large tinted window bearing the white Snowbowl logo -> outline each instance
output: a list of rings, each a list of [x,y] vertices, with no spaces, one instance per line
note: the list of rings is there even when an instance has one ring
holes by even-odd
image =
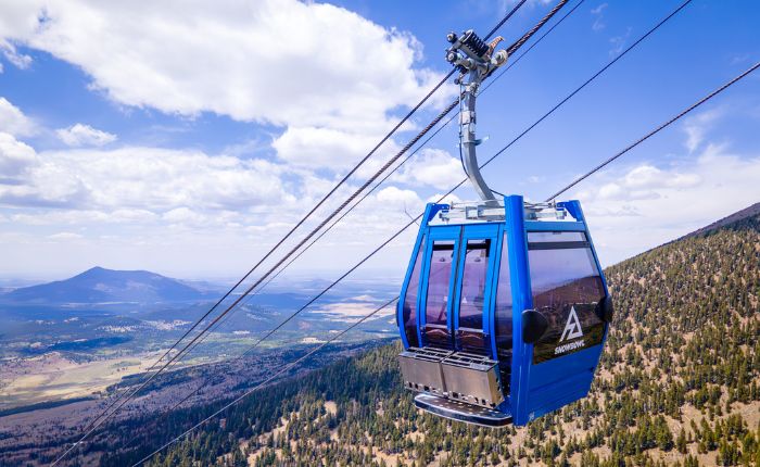
[[[604,337],[604,323],[595,313],[604,285],[585,237],[557,241],[550,248],[532,245],[542,238],[545,232],[528,234],[533,307],[549,321],[534,346],[533,363],[599,344]]]

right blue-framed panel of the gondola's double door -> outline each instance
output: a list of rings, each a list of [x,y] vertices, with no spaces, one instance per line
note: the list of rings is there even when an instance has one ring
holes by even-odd
[[[492,355],[491,287],[496,264],[498,225],[464,226],[454,299],[454,340],[457,351]]]

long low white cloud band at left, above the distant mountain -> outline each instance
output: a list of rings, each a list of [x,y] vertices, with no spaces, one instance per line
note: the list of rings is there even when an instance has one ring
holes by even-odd
[[[122,213],[129,215],[292,201],[282,187],[282,168],[263,160],[139,147],[36,154],[9,137],[0,141],[15,154],[5,156],[11,152],[3,149],[0,161],[24,171],[16,184],[0,185],[0,203],[7,205],[127,210]]]

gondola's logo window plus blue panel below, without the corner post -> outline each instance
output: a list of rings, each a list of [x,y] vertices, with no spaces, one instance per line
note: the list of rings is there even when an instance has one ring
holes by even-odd
[[[586,230],[528,230],[533,308],[548,327],[530,358],[529,418],[585,396],[601,354],[607,295]]]

